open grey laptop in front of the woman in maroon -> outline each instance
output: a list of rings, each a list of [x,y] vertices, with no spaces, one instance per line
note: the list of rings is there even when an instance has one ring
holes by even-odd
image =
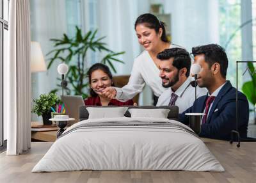
[[[66,114],[76,120],[70,121],[70,125],[79,122],[79,107],[85,106],[83,97],[80,95],[64,95],[63,97]]]

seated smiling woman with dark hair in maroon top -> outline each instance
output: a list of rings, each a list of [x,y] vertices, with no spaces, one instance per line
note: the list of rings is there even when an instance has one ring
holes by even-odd
[[[90,95],[84,100],[86,106],[132,106],[133,101],[120,102],[116,99],[108,99],[102,95],[102,90],[108,86],[114,86],[112,74],[108,66],[102,63],[95,63],[88,70],[90,83]]]

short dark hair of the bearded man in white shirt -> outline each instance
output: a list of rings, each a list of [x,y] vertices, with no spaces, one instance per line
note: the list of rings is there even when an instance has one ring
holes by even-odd
[[[165,49],[162,52],[157,54],[159,60],[168,60],[173,58],[173,67],[176,67],[178,70],[181,68],[187,68],[186,77],[189,77],[190,67],[191,67],[191,58],[189,52],[186,49],[182,48],[171,48]]]

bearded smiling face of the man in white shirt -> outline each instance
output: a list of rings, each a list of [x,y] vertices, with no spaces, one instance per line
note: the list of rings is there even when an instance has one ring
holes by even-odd
[[[173,86],[179,81],[179,70],[173,67],[173,58],[168,60],[162,60],[159,63],[160,74],[162,79],[162,85],[164,88]]]

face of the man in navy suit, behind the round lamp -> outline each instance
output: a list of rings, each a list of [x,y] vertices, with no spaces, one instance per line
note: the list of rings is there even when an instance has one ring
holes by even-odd
[[[196,55],[194,63],[198,63],[201,67],[197,79],[198,86],[210,88],[211,85],[214,83],[214,65],[212,65],[212,67],[209,67],[208,63],[205,62],[204,54]]]

